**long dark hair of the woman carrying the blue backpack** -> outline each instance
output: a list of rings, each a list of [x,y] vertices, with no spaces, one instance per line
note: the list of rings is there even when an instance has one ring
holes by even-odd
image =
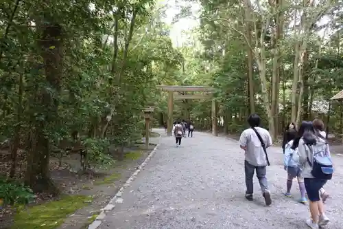
[[[316,144],[318,138],[325,140],[324,138],[322,138],[322,135],[320,135],[319,131],[314,128],[314,124],[308,121],[301,122],[298,130],[298,135],[293,142],[292,149],[298,148],[301,138],[303,138],[304,143],[307,145]]]

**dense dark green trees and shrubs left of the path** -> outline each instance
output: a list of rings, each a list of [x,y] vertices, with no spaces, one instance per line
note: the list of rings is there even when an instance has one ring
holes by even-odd
[[[123,157],[141,138],[142,109],[182,54],[154,1],[2,1],[1,165],[34,192],[58,193],[49,157],[84,156],[84,169]],[[163,81],[164,82],[164,81]],[[118,149],[108,152],[108,145]],[[18,173],[19,158],[24,168]]]

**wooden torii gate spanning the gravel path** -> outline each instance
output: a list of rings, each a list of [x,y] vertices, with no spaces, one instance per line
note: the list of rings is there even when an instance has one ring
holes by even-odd
[[[213,91],[212,87],[205,87],[205,86],[164,86],[160,85],[157,86],[158,88],[162,89],[163,91],[168,91],[168,122],[167,122],[167,135],[171,136],[172,128],[173,128],[173,108],[174,108],[174,99],[211,99],[212,100],[212,134],[214,136],[218,135],[217,132],[217,105],[215,100],[213,99]],[[189,95],[182,95],[182,94],[174,94],[176,91],[202,91],[207,92],[207,94],[189,94]]]

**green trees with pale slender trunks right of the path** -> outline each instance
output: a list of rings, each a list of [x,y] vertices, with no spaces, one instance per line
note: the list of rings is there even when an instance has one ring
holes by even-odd
[[[288,122],[322,118],[342,133],[342,1],[200,1],[202,63],[224,131],[257,112],[273,138]],[[209,108],[207,109],[209,110]]]

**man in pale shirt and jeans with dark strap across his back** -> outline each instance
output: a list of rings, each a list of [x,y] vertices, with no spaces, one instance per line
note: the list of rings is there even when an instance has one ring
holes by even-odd
[[[246,199],[253,200],[254,184],[252,179],[256,170],[265,204],[269,206],[272,204],[272,198],[268,189],[268,180],[265,177],[266,166],[269,165],[266,149],[272,145],[272,138],[266,129],[259,127],[260,122],[261,118],[256,113],[248,117],[250,128],[241,133],[239,144],[246,154],[244,162]]]

